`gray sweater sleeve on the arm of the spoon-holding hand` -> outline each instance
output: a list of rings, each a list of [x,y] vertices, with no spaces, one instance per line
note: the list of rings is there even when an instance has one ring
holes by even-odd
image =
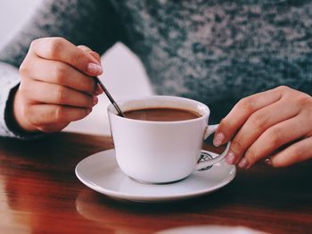
[[[12,128],[12,96],[19,85],[18,68],[31,41],[62,37],[103,54],[117,41],[124,41],[119,17],[110,1],[45,0],[33,17],[0,49],[0,136],[29,138]]]

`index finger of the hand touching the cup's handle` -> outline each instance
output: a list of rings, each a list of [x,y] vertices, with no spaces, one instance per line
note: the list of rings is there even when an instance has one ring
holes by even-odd
[[[243,123],[248,120],[252,113],[273,104],[282,97],[279,88],[258,93],[252,96],[244,97],[234,105],[234,108],[220,122],[213,140],[215,146],[220,146],[231,138],[239,130]]]

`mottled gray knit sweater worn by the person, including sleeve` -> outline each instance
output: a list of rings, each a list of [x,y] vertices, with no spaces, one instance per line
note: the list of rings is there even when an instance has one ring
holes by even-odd
[[[216,122],[269,88],[311,95],[311,34],[305,0],[47,0],[0,52],[0,135],[18,134],[10,92],[35,38],[63,37],[100,54],[120,41],[141,58],[156,93],[208,104]]]

